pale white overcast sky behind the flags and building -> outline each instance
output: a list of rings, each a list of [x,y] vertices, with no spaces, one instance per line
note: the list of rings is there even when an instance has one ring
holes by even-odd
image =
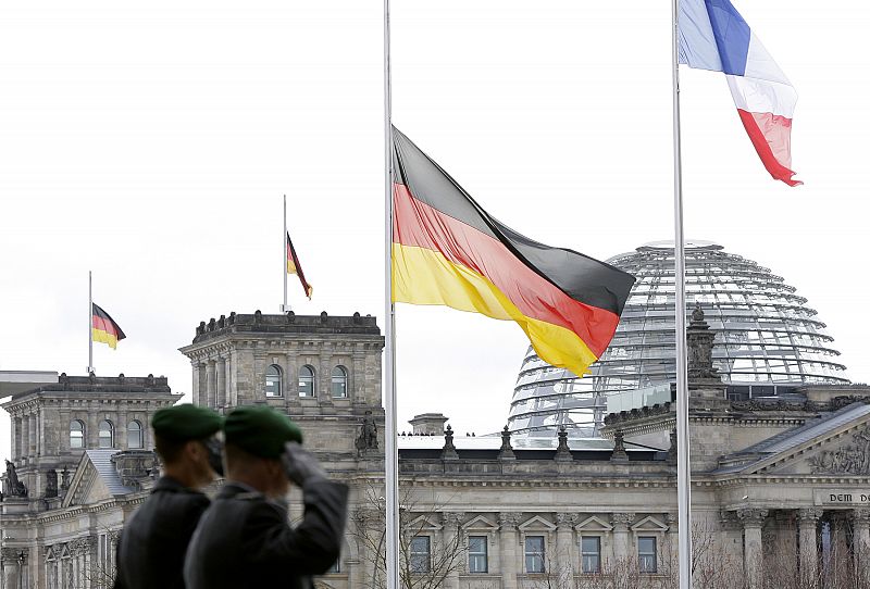
[[[770,267],[870,379],[870,10],[737,0],[799,99],[806,185],[770,179],[721,74],[682,68],[687,237]],[[384,311],[382,4],[4,2],[0,369],[85,374],[87,273],[127,334],[99,375],[165,375],[200,321],[282,299],[282,195],[311,302]],[[493,215],[607,259],[673,236],[670,3],[394,0],[394,123]],[[527,341],[444,308],[397,311],[399,429],[506,423]],[[9,453],[2,414],[0,454]]]

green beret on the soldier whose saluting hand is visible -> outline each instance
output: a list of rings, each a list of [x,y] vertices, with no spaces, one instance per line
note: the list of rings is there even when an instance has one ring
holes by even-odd
[[[254,456],[276,459],[284,452],[285,442],[302,443],[302,430],[268,405],[246,405],[226,416],[224,439]]]

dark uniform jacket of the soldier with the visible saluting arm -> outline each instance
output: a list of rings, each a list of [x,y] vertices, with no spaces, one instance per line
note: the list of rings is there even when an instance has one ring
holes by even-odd
[[[286,505],[227,483],[190,540],[187,588],[310,587],[310,576],[325,573],[338,559],[347,492],[340,483],[308,483],[304,517],[294,528]]]

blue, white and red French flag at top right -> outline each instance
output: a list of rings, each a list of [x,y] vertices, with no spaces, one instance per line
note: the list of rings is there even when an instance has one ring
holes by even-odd
[[[729,0],[680,0],[680,63],[722,72],[765,167],[788,186],[797,92]]]

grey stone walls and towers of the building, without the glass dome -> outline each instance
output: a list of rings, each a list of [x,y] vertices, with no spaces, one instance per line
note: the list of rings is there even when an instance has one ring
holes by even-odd
[[[805,571],[835,546],[848,547],[856,565],[870,561],[870,389],[805,387],[788,399],[730,401],[706,366],[709,350],[697,348],[713,341],[703,315],[689,329],[698,336],[689,338],[693,530],[707,557],[734,564],[755,585],[783,554]],[[376,566],[384,549],[383,346],[373,317],[258,312],[203,322],[181,349],[191,361],[195,402],[286,412],[307,447],[350,486],[345,547],[320,579],[335,589],[384,586]],[[8,492],[3,502],[2,587],[101,587],[116,532],[156,475],[147,450],[99,450],[99,423],[145,425],[153,408],[177,396],[165,383],[133,391],[84,379],[5,405],[17,449],[12,466],[27,497]],[[147,401],[151,409],[136,413]],[[83,450],[70,447],[63,429],[72,419],[86,425]],[[672,575],[676,535],[685,531],[676,518],[672,404],[609,415],[611,442],[564,431],[522,439],[507,428],[456,436],[446,419],[421,415],[414,434],[399,437],[407,586],[575,588],[614,563],[642,572],[639,586]],[[46,439],[30,436],[46,427],[54,428]],[[63,475],[67,463],[74,466]],[[297,491],[291,517],[301,509]]]

